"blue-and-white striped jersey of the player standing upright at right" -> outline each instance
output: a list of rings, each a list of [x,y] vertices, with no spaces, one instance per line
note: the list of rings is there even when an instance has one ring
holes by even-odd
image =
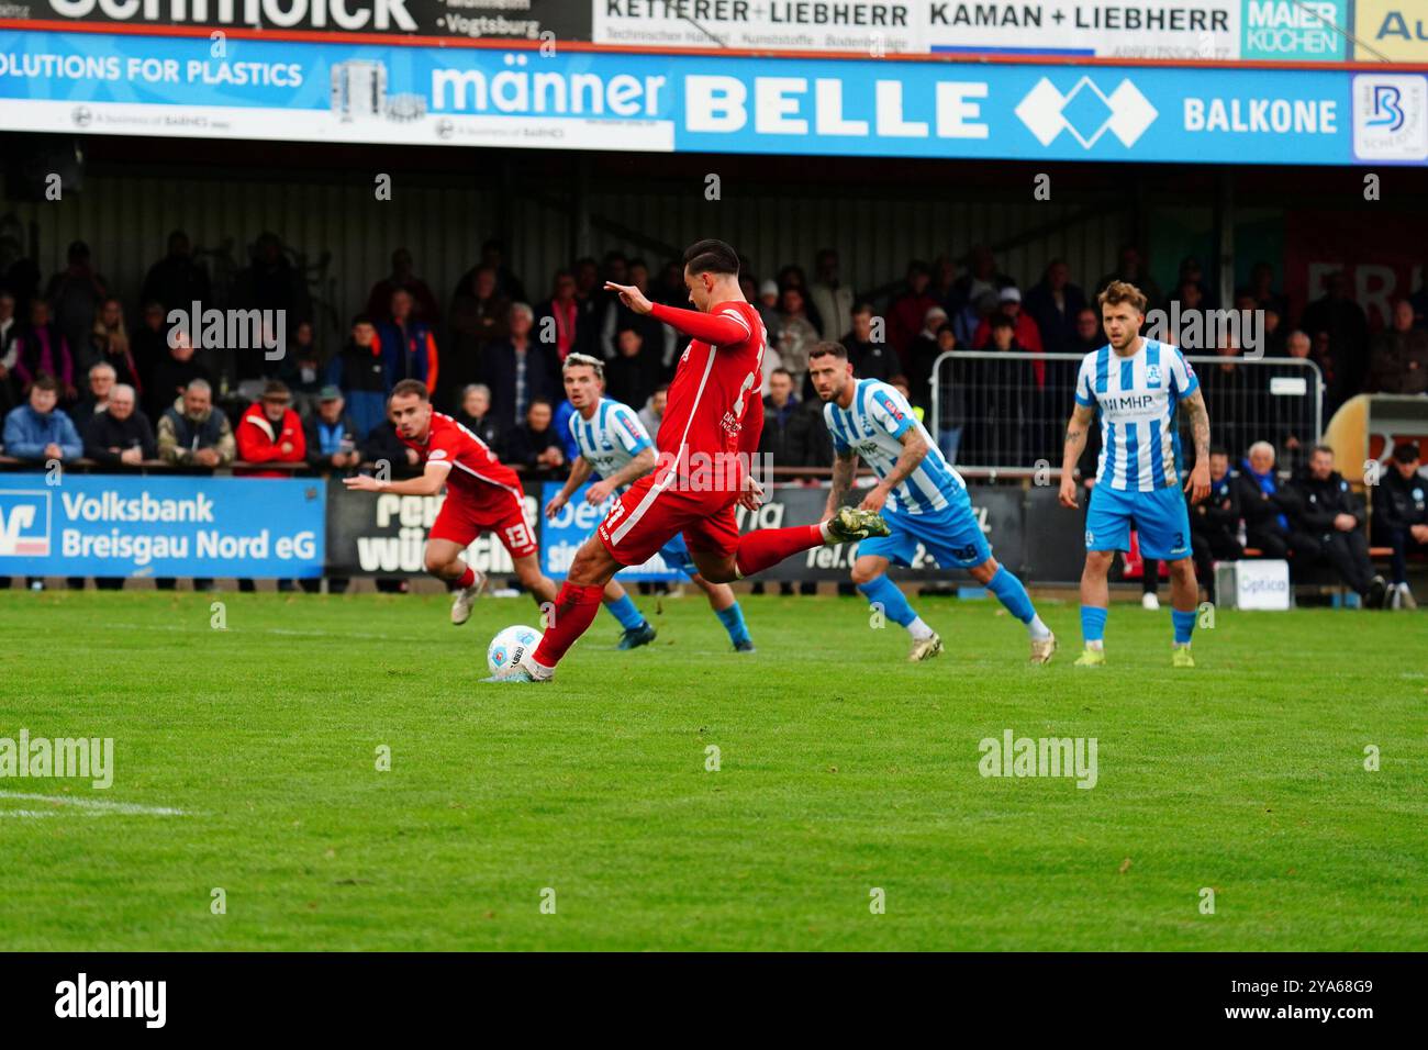
[[[1154,491],[1180,484],[1180,427],[1175,406],[1200,389],[1178,347],[1141,339],[1130,357],[1110,347],[1081,360],[1075,403],[1101,410],[1097,484]]]

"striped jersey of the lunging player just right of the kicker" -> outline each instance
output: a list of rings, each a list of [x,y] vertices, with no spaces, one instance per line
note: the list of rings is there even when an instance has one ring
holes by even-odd
[[[952,470],[927,427],[917,421],[912,406],[894,387],[877,379],[860,379],[853,404],[838,407],[837,401],[823,406],[823,419],[833,434],[833,447],[845,456],[857,453],[881,479],[892,473],[902,454],[901,437],[917,427],[927,441],[927,456],[917,470],[888,494],[888,507],[904,514],[942,510],[961,500],[967,489],[961,474]]]

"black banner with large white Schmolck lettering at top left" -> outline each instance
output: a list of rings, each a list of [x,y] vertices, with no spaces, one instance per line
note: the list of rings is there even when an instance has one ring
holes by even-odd
[[[585,0],[4,0],[0,17],[468,40],[590,40]]]

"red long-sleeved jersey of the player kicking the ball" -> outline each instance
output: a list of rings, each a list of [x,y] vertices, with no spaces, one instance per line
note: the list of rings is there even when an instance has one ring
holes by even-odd
[[[710,313],[655,304],[653,316],[694,337],[670,383],[654,439],[660,451],[715,456],[757,449],[768,343],[758,310],[744,301],[718,303]]]

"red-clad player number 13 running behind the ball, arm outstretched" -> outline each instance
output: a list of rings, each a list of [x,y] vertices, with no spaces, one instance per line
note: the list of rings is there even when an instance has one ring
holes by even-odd
[[[555,600],[555,581],[544,576],[537,559],[536,534],[526,521],[526,493],[516,471],[496,459],[480,437],[450,416],[433,411],[424,383],[404,379],[391,389],[387,414],[397,437],[416,449],[426,467],[421,477],[378,481],[368,474],[344,477],[343,484],[368,493],[436,496],[447,487],[446,501],[427,534],[427,571],[456,583],[451,623],[471,619],[471,603],[486,587],[486,574],[461,560],[461,551],[483,531],[496,533],[516,563],[516,574],[536,601]]]

